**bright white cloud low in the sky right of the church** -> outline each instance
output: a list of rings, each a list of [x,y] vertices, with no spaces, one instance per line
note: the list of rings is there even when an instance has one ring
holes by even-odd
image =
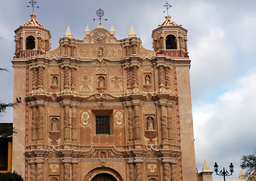
[[[215,103],[194,107],[195,153],[198,170],[209,165],[235,164],[239,173],[242,155],[254,151],[256,142],[256,68],[231,84]],[[213,169],[211,167],[211,169]]]

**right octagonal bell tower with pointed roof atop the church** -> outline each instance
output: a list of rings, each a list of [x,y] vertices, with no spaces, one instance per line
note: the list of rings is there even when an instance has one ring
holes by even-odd
[[[152,32],[154,51],[156,54],[170,57],[189,57],[186,46],[188,30],[174,23],[170,15],[165,19],[164,23]]]

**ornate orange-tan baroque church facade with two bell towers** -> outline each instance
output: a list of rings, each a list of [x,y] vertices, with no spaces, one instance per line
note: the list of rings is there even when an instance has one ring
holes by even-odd
[[[12,170],[25,180],[195,181],[187,30],[127,38],[69,27],[50,50],[36,14],[15,30]]]

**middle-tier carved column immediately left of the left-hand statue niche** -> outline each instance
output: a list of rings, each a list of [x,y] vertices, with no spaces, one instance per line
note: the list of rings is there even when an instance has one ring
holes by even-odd
[[[43,125],[45,118],[44,106],[38,106],[38,118],[37,118],[37,149],[43,149]]]

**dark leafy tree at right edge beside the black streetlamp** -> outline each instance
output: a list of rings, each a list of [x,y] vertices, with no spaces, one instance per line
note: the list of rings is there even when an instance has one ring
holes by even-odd
[[[240,167],[246,169],[245,175],[248,176],[248,180],[256,180],[256,150],[251,155],[243,155],[241,160]]]

